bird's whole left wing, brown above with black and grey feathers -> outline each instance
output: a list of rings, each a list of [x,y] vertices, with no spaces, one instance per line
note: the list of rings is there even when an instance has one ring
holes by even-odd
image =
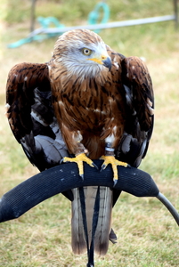
[[[53,114],[47,64],[20,63],[11,69],[6,108],[12,133],[40,171],[68,155]]]

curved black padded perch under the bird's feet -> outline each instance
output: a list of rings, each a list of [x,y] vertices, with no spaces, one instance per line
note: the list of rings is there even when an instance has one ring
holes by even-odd
[[[100,169],[102,161],[94,160],[94,163]],[[78,175],[76,164],[65,163],[21,182],[0,199],[0,223],[18,218],[45,199],[73,188],[89,185],[113,187],[113,173],[110,166],[107,166],[102,172],[86,164],[84,164],[84,168],[84,181]],[[116,190],[126,191],[135,197],[159,198],[179,225],[179,214],[169,200],[159,192],[150,174],[134,167],[123,166],[118,166],[118,174]]]

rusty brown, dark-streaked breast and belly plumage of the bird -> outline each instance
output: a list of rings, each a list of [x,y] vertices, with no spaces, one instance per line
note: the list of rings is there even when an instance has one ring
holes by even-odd
[[[111,54],[111,51],[109,50],[108,53]],[[101,140],[112,134],[114,126],[117,126],[115,142],[115,147],[117,147],[124,132],[126,109],[124,89],[122,84],[118,83],[121,76],[121,60],[120,55],[113,54],[114,63],[107,75],[104,76],[106,74],[105,69],[102,77],[88,77],[83,81],[78,80],[75,76],[68,78],[67,69],[64,69],[58,62],[50,62],[50,78],[53,81],[53,105],[62,133],[67,134],[64,129],[66,125],[71,139],[73,132],[80,131],[83,137],[86,133],[90,133],[90,139],[94,139],[94,142],[98,139],[100,144],[102,143]],[[116,61],[118,61],[118,66],[115,65],[117,64]],[[73,83],[75,83],[75,86]],[[83,130],[81,131],[81,129]],[[74,149],[71,147],[73,141],[69,140],[69,136],[66,136],[66,134],[63,134],[63,137],[68,147],[70,147],[69,150],[75,153],[75,147]],[[98,148],[100,147],[98,145]],[[99,153],[93,156],[93,158],[98,157]]]

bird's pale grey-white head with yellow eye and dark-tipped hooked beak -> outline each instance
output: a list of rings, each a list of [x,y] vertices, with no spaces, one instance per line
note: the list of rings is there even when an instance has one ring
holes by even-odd
[[[69,75],[95,77],[111,68],[102,38],[88,29],[64,33],[54,45],[53,59],[68,69]]]

